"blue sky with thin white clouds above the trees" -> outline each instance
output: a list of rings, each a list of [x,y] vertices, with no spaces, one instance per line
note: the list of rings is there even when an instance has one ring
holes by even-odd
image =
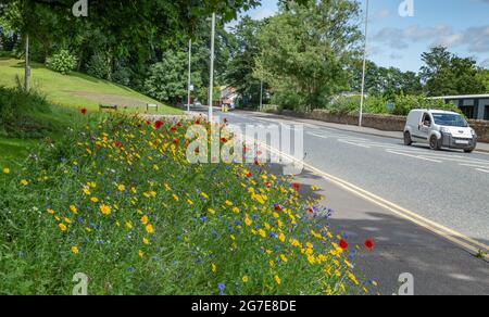
[[[403,0],[369,0],[368,58],[381,66],[417,72],[421,54],[443,45],[489,68],[489,0],[412,0],[414,16],[402,17]],[[359,0],[364,10],[366,0]],[[276,0],[246,14],[264,18],[277,12]]]

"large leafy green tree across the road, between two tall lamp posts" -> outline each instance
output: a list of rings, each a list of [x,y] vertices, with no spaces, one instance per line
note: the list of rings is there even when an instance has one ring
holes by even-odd
[[[274,100],[291,109],[321,107],[348,88],[346,69],[360,54],[356,1],[290,3],[269,18],[259,35],[255,76],[264,78]]]

